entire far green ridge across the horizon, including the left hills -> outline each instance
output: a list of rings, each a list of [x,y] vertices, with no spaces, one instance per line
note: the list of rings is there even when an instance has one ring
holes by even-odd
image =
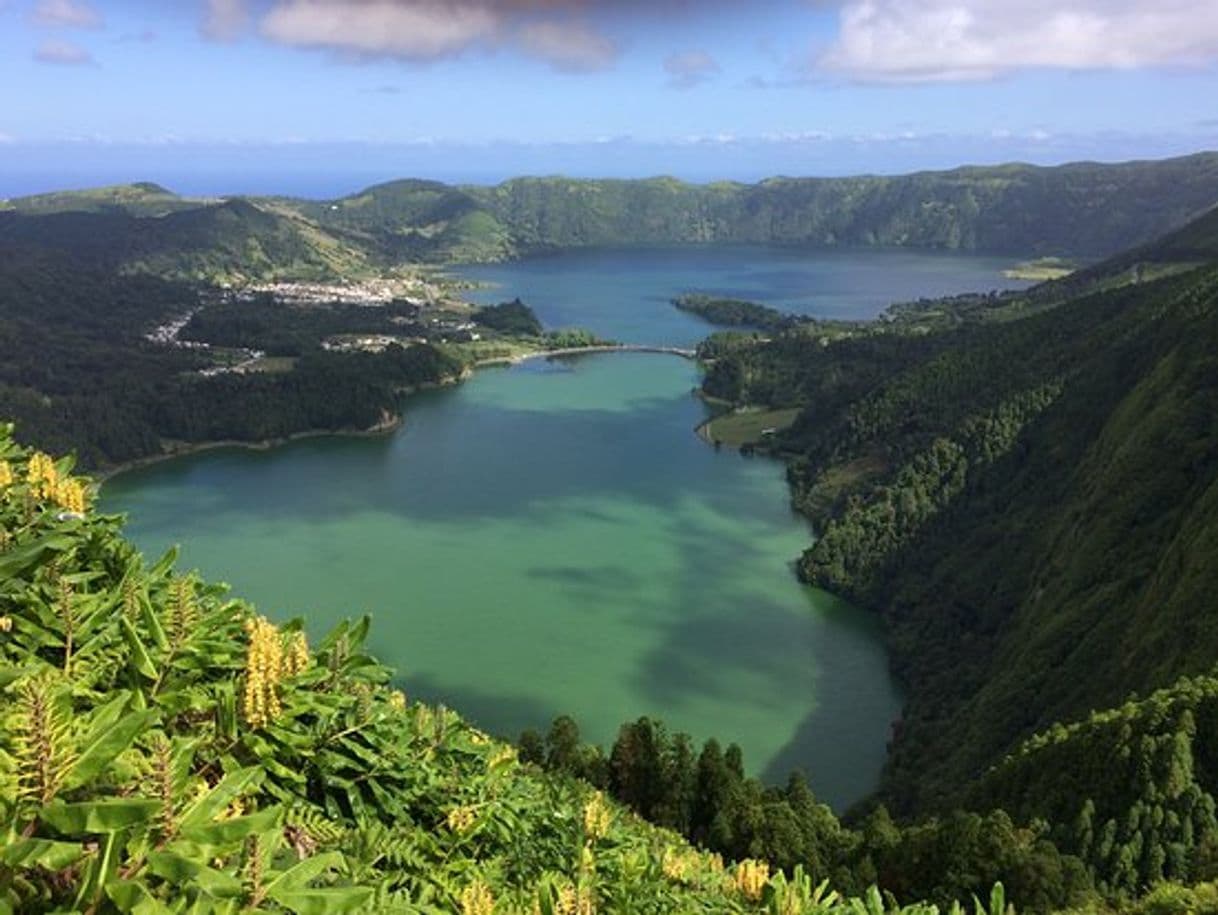
[[[340,269],[402,262],[492,261],[644,244],[892,246],[1095,258],[1150,242],[1218,203],[1218,154],[1118,164],[967,166],[895,177],[776,177],[756,184],[527,177],[485,186],[403,179],[320,201],[191,200],[143,183],[18,197],[0,203],[0,216],[150,218],[223,211],[239,200],[285,222],[258,229],[231,225],[231,238],[211,238],[219,247],[212,257],[196,253],[180,264],[166,251],[200,245],[189,228],[151,261],[144,260],[145,249],[156,246],[133,242],[130,235],[140,236],[140,230],[118,222],[96,223],[93,247],[113,236],[119,250],[134,249],[125,256],[138,268],[231,279],[333,277]],[[173,222],[157,228],[179,229]],[[46,233],[9,227],[9,238],[23,234]],[[234,257],[247,249],[250,264],[242,272]]]

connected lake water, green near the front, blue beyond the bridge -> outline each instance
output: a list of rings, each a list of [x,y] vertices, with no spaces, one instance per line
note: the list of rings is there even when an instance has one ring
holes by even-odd
[[[622,273],[630,253],[575,256],[583,299],[547,285],[563,258],[465,273],[536,302],[551,325],[691,344],[706,327],[674,319],[664,297],[687,277],[708,289],[704,256],[674,253],[666,274],[653,263],[652,281]],[[789,279],[788,252],[733,256]],[[984,258],[921,257],[905,266],[929,260],[944,280],[923,278],[920,292],[1009,285]],[[710,291],[747,286],[710,275]],[[775,290],[754,297],[789,301],[781,281],[753,279]],[[875,313],[875,296],[854,308]],[[410,397],[390,436],[169,461],[108,481],[104,508],[132,514],[149,554],[181,543],[186,567],[274,618],[306,618],[314,636],[371,613],[371,648],[410,696],[492,732],[566,713],[608,744],[622,721],[653,715],[739,743],[769,780],[803,769],[842,808],[875,787],[900,714],[878,629],[795,580],[811,532],[782,465],[702,442],[697,384],[692,362],[646,353],[485,369]]]

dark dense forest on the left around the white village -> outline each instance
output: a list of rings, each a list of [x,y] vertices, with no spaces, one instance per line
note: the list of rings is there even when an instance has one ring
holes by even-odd
[[[278,320],[259,324],[253,307],[223,341],[301,358],[289,372],[203,375],[213,366],[205,351],[145,339],[153,325],[199,307],[194,284],[114,273],[57,252],[7,250],[0,261],[0,415],[18,424],[22,440],[76,451],[83,465],[101,468],[160,454],[167,442],[368,429],[396,414],[402,390],[463,369],[425,344],[325,352],[315,327],[324,317],[286,324],[279,308]],[[208,327],[203,314],[194,320]],[[392,316],[363,309],[356,317]]]

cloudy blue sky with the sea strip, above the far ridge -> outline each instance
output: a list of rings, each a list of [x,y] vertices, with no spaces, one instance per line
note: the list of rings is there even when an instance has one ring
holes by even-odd
[[[0,195],[1218,147],[1218,0],[0,0]]]

